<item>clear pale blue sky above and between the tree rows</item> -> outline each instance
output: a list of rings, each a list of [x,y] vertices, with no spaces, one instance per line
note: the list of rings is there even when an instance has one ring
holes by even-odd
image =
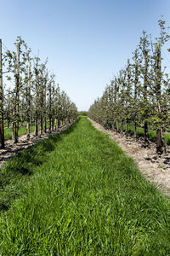
[[[156,36],[161,15],[170,26],[169,0],[8,0],[1,10],[3,44],[14,49],[20,35],[33,54],[48,57],[48,69],[79,110],[102,95],[143,30]]]

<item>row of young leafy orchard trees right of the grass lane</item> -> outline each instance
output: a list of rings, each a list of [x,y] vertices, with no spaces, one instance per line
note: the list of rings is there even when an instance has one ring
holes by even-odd
[[[144,128],[144,143],[149,143],[148,130],[156,130],[156,150],[166,151],[163,131],[169,127],[170,80],[166,67],[162,67],[161,50],[169,40],[164,20],[158,20],[160,35],[153,42],[145,31],[134,50],[132,60],[111,79],[103,96],[89,108],[89,116],[107,129],[127,134],[133,125]],[[169,49],[167,49],[169,51]]]

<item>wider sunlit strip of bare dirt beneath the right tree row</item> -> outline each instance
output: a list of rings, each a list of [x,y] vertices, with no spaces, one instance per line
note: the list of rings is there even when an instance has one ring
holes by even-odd
[[[89,119],[99,131],[109,134],[127,155],[132,156],[139,166],[140,172],[144,174],[150,183],[156,183],[165,194],[170,195],[170,147],[167,147],[167,154],[161,156],[156,154],[156,144],[150,143],[150,148],[143,147],[143,141],[134,142],[133,137],[125,137],[115,131],[105,128],[94,120]]]

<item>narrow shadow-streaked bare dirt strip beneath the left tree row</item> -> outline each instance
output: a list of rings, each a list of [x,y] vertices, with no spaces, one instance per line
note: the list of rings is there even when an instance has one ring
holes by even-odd
[[[59,128],[58,131],[52,131],[51,133],[43,133],[37,137],[34,136],[34,132],[31,133],[30,140],[26,140],[26,135],[22,135],[19,137],[19,143],[14,144],[13,140],[8,140],[5,142],[5,148],[0,149],[0,168],[3,166],[4,162],[10,159],[14,154],[34,145],[35,143],[39,142],[44,138],[48,138],[50,135],[60,133],[62,131],[67,130],[71,125],[64,125],[63,127]]]

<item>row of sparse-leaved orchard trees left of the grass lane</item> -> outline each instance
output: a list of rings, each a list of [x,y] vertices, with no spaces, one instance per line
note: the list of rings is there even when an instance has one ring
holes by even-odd
[[[47,60],[39,55],[31,57],[31,49],[20,37],[15,50],[2,51],[0,39],[0,146],[4,148],[4,125],[12,126],[14,143],[18,143],[20,123],[26,124],[26,138],[30,139],[30,125],[34,134],[58,129],[60,125],[77,119],[77,107],[55,82]],[[3,78],[12,88],[4,89]]]

